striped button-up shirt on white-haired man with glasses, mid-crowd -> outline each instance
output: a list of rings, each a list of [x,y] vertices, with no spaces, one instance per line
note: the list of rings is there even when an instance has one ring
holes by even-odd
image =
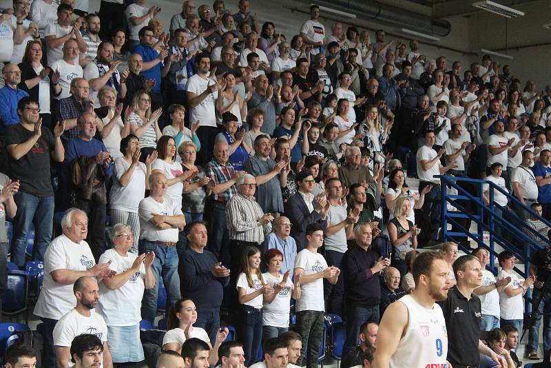
[[[258,222],[264,211],[255,198],[242,194],[231,197],[226,205],[226,227],[229,238],[236,241],[247,241],[260,244],[264,235],[271,232],[271,223],[261,225]]]

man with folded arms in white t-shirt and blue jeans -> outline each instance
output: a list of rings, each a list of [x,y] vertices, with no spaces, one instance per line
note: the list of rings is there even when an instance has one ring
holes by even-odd
[[[138,213],[140,216],[140,253],[155,252],[153,272],[155,287],[147,289],[142,301],[142,318],[154,321],[157,315],[159,278],[167,290],[167,311],[180,299],[180,279],[178,278],[178,256],[176,243],[178,230],[185,224],[180,203],[167,196],[167,178],[162,172],[152,172],[149,176],[151,194],[142,199]]]

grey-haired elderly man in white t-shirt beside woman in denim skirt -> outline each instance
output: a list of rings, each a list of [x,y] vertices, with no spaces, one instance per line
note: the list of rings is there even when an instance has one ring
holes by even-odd
[[[72,208],[61,219],[63,234],[55,238],[44,254],[44,283],[34,307],[42,320],[44,339],[43,367],[55,367],[53,331],[57,321],[76,305],[73,284],[81,276],[98,280],[111,277],[109,263],[96,265],[88,243],[88,218],[85,212]]]

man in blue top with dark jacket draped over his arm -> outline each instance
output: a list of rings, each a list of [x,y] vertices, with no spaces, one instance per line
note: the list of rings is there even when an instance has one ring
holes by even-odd
[[[73,177],[75,165],[81,170],[76,178],[74,193],[76,207],[86,212],[92,231],[87,236],[94,258],[98,259],[105,250],[105,215],[107,211],[107,182],[113,174],[113,159],[103,142],[94,138],[96,121],[86,112],[79,116],[80,134],[67,142],[63,161],[65,178]],[[93,183],[89,182],[92,177]],[[68,183],[67,183],[68,184]],[[68,188],[68,187],[67,187]]]

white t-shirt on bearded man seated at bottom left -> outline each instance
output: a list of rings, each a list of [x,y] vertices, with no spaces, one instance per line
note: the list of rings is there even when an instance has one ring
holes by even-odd
[[[56,323],[54,327],[54,346],[70,347],[73,339],[82,334],[97,336],[102,343],[107,341],[107,325],[103,317],[94,310],[90,311],[90,317],[83,316],[76,309],[70,310]],[[74,366],[69,358],[69,366]],[[103,363],[100,365],[103,367]]]

